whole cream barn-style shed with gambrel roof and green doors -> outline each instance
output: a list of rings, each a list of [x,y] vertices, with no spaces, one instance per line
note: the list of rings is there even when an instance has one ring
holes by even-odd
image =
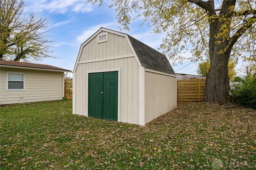
[[[176,103],[176,75],[162,53],[106,28],[82,43],[73,71],[73,114],[145,125]]]

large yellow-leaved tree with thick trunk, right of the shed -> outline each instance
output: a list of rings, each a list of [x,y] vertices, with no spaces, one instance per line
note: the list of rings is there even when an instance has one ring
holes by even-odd
[[[186,51],[193,54],[192,61],[208,56],[204,101],[227,101],[228,60],[242,55],[245,45],[248,51],[253,50],[248,44],[255,38],[255,0],[112,0],[110,7],[116,9],[116,18],[124,29],[129,30],[131,20],[143,15],[144,23],[153,27],[154,33],[165,32],[160,48],[172,61],[182,62]],[[134,12],[137,15],[132,18]]]

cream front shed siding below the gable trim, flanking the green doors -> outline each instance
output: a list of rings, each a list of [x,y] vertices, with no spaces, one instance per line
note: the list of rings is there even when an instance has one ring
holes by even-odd
[[[139,67],[135,57],[126,57],[107,61],[78,64],[75,81],[75,114],[86,115],[88,99],[87,71],[120,69],[120,121],[138,124],[138,88]],[[74,100],[74,99],[73,99]]]

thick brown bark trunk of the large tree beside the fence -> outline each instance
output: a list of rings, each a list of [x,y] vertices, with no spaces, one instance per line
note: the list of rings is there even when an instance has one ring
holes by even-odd
[[[214,12],[214,1],[208,1],[208,3],[211,4],[210,10],[207,8],[209,5],[202,6],[206,12],[210,11],[208,12],[210,69],[206,76],[204,102],[226,103],[230,91],[228,60],[232,49],[229,42],[229,33],[233,8],[230,7],[234,6],[236,1],[224,0],[218,15]],[[226,30],[223,30],[223,28],[226,28]],[[223,31],[226,35],[220,34],[221,36],[218,36]]]

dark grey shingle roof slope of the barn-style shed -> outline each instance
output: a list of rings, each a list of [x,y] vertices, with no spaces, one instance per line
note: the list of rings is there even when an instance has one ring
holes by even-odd
[[[143,67],[175,75],[170,62],[164,54],[129,35],[128,38]]]

